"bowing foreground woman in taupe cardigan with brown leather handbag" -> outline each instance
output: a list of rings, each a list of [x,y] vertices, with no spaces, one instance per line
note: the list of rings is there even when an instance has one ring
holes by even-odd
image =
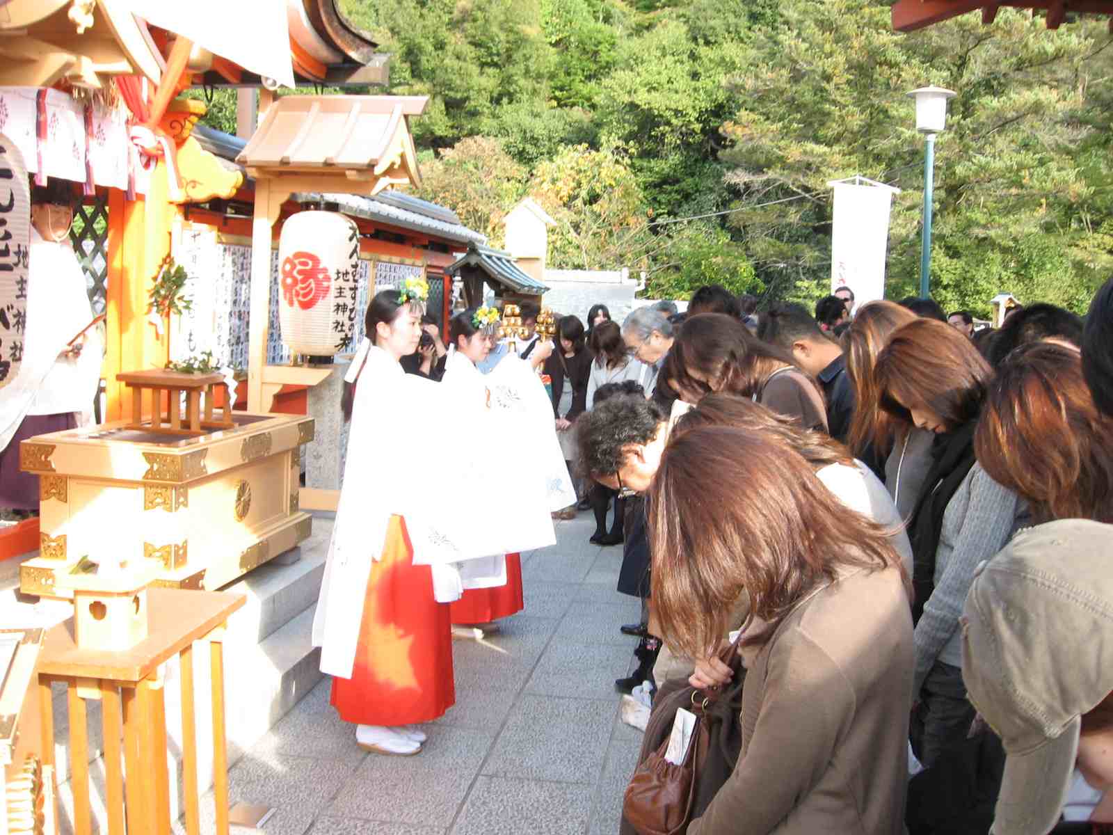
[[[741,754],[689,835],[903,832],[912,622],[884,529],[729,426],[670,439],[647,504],[666,639],[706,657],[743,593],[752,612]]]

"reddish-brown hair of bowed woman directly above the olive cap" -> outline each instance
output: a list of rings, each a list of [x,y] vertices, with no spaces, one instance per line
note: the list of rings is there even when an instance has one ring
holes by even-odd
[[[974,435],[982,468],[1037,522],[1113,522],[1113,421],[1094,405],[1077,348],[1035,342],[997,369]]]

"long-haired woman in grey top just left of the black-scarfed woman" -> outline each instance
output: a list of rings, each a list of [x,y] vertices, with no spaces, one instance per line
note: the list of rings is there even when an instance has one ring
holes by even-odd
[[[875,472],[884,474],[885,487],[902,519],[908,518],[919,498],[935,435],[881,407],[874,365],[893,332],[915,321],[916,314],[907,307],[893,302],[870,302],[858,310],[843,334],[846,373],[856,402],[847,445]]]

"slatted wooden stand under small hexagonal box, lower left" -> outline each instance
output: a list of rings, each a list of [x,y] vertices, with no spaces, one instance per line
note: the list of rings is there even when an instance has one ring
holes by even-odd
[[[216,831],[228,833],[228,762],[224,716],[224,626],[246,598],[211,591],[150,589],[148,636],[130,649],[79,649],[73,620],[47,632],[39,658],[43,765],[53,766],[50,685],[67,686],[73,831],[92,829],[89,802],[89,734],[86,699],[99,699],[104,721],[105,811],[108,835],[167,835],[170,785],[166,703],[160,666],[179,656],[181,666],[181,768],[186,832],[200,832],[197,727],[194,713],[194,641],[209,640],[213,672],[213,794]],[[127,789],[125,792],[125,788]]]

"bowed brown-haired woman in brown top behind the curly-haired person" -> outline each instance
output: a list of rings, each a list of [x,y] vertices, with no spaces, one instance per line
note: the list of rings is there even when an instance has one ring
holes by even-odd
[[[689,403],[710,392],[739,394],[798,419],[805,429],[827,431],[823,394],[791,354],[761,342],[726,314],[684,320],[661,374]]]

